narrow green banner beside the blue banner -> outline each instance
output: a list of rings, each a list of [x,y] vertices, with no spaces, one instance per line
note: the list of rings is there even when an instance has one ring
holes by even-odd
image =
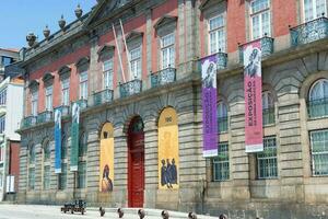
[[[70,171],[78,171],[79,125],[80,125],[80,105],[78,103],[73,103],[73,106],[72,106],[72,127],[71,127],[71,165],[70,165]]]

